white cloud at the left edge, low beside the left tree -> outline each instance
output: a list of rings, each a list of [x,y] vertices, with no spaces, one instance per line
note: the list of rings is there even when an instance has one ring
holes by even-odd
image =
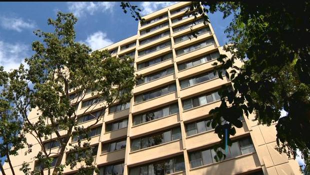
[[[20,63],[24,63],[29,47],[22,43],[8,43],[0,40],[0,65],[5,71],[17,68]]]

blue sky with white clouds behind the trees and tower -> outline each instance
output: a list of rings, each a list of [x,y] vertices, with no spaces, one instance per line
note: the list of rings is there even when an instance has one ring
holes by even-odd
[[[131,2],[148,14],[176,2]],[[120,2],[0,2],[0,65],[4,70],[16,68],[33,54],[31,43],[37,39],[33,30],[51,31],[47,18],[57,11],[72,12],[78,17],[76,41],[93,49],[101,48],[135,35],[137,21],[124,14]],[[219,43],[227,40],[224,28],[231,18],[222,20],[221,13],[209,14]]]

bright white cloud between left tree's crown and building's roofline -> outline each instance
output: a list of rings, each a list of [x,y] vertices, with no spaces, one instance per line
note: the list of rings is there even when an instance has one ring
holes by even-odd
[[[90,34],[89,36],[87,36],[85,41],[81,42],[90,46],[92,50],[96,50],[113,43],[113,41],[106,37],[106,33],[102,31],[97,31]]]

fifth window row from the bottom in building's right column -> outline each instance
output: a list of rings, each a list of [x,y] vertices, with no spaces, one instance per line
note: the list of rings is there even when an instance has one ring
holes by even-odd
[[[192,59],[192,60],[190,60],[190,61],[180,63],[180,64],[177,65],[177,68],[178,68],[178,70],[183,70],[183,69],[185,69],[185,68],[189,68],[189,67],[192,67],[192,66],[196,66],[196,65],[198,65],[198,64],[201,64],[201,63],[204,63],[204,62],[207,62],[207,61],[216,59],[216,58],[218,58],[218,57],[219,57],[219,52],[218,52],[218,51],[215,51],[215,52],[206,54],[206,55],[204,55],[204,56],[201,56],[201,57]]]

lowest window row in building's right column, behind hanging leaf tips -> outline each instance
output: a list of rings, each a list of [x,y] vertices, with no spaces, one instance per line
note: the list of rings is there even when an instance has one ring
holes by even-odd
[[[246,151],[242,152],[242,149],[244,148],[246,149]],[[225,153],[224,149],[222,148],[219,148],[219,149],[226,155],[225,159],[233,158],[238,155],[244,155],[244,154],[255,151],[252,140],[249,137],[242,138],[242,139],[232,142],[231,146],[228,146],[227,153]],[[216,152],[213,150],[212,147],[204,149],[204,150],[190,152],[189,153],[190,167],[194,168],[194,167],[198,167],[198,166],[202,166],[206,164],[215,163],[216,162],[216,160],[214,159],[215,155],[216,155]]]

